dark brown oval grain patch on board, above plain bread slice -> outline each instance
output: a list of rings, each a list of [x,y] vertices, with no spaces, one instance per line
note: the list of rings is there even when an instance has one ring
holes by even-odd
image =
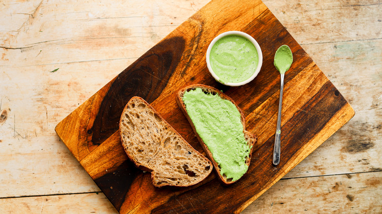
[[[158,43],[122,71],[102,100],[93,127],[92,143],[99,145],[118,130],[123,107],[133,96],[147,102],[159,97],[184,52],[182,37]]]

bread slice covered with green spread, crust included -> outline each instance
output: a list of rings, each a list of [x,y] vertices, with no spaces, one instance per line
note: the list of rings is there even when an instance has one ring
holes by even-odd
[[[241,109],[218,89],[191,85],[178,92],[177,103],[212,161],[219,179],[232,184],[251,162],[256,135],[245,130]]]

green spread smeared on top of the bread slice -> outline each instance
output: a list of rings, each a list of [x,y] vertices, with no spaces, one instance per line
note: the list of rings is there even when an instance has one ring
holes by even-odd
[[[220,165],[220,174],[238,180],[248,170],[245,160],[251,149],[244,138],[239,110],[201,88],[186,91],[183,102],[196,132]]]

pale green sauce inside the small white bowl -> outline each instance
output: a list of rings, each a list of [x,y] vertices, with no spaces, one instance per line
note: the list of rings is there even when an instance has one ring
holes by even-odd
[[[242,36],[222,37],[211,49],[211,68],[222,83],[240,83],[249,79],[258,63],[255,45]]]

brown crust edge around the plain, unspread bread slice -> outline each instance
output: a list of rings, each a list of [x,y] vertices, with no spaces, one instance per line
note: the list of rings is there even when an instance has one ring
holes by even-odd
[[[173,134],[177,135],[178,139],[180,139],[180,141],[182,143],[184,143],[183,145],[187,144],[187,150],[191,150],[192,152],[196,153],[200,158],[202,158],[203,160],[207,161],[209,166],[212,166],[212,162],[206,158],[205,156],[203,156],[201,153],[199,153],[197,150],[195,150],[174,128],[172,128],[165,119],[163,119],[159,114],[158,112],[153,108],[151,107],[143,98],[141,97],[132,97],[129,102],[126,104],[126,106],[124,107],[123,111],[122,111],[122,114],[121,114],[121,117],[120,117],[120,120],[119,120],[119,137],[120,137],[120,140],[121,140],[121,143],[122,143],[122,147],[123,149],[125,150],[128,158],[136,165],[137,168],[143,170],[143,171],[149,171],[151,172],[151,180],[152,180],[152,184],[156,187],[162,187],[162,186],[167,186],[168,184],[166,183],[162,183],[160,185],[158,185],[157,183],[154,182],[154,170],[153,169],[150,169],[148,167],[145,167],[143,166],[142,164],[140,164],[136,157],[131,154],[129,151],[128,151],[128,146],[127,146],[127,143],[124,142],[123,140],[123,137],[122,137],[122,128],[123,128],[123,123],[122,123],[122,120],[123,120],[123,115],[125,114],[125,112],[127,111],[128,109],[128,106],[131,104],[131,102],[135,102],[139,100],[139,102],[143,103],[144,105],[146,105],[146,107],[149,107],[153,112],[154,114],[156,114],[156,116],[158,116],[163,122],[163,126],[167,128],[167,131],[171,131]],[[205,174],[202,174],[200,179],[198,179],[197,182],[194,182],[194,183],[191,183],[191,184],[187,184],[187,185],[168,185],[168,186],[177,186],[177,187],[188,187],[188,186],[192,186],[192,185],[195,185],[197,183],[199,183],[200,181],[204,180],[212,171],[212,167],[210,167],[209,171]]]

